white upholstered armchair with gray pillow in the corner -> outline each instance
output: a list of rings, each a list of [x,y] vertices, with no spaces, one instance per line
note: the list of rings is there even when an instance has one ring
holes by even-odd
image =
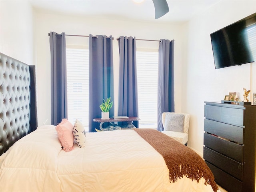
[[[162,113],[162,133],[186,145],[188,142],[189,114],[164,112]]]

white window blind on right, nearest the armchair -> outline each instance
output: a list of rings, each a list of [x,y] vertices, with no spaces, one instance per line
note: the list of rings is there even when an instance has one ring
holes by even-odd
[[[136,51],[140,128],[157,128],[158,52]]]

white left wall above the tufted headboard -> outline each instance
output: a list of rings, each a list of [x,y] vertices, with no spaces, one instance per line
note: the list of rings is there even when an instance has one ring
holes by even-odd
[[[34,64],[33,10],[26,1],[0,1],[0,52]]]

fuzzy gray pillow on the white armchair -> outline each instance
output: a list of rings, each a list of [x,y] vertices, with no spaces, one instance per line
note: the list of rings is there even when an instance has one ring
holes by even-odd
[[[166,113],[164,131],[183,132],[184,114]]]

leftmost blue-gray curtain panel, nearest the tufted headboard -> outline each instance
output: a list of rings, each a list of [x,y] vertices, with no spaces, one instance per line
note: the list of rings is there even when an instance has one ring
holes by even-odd
[[[68,118],[65,33],[50,32],[51,52],[51,124]]]

